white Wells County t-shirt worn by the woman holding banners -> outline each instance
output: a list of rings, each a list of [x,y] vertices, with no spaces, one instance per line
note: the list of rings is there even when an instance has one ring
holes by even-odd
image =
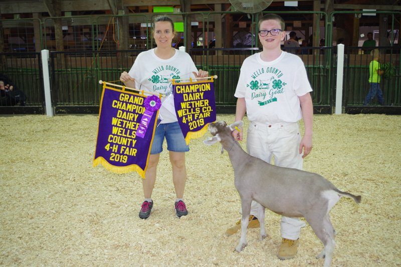
[[[159,114],[163,118],[161,123],[171,123],[177,121],[177,116],[167,108],[173,105],[172,84],[168,79],[195,78],[192,72],[197,73],[196,66],[187,53],[175,50],[174,56],[163,60],[151,49],[138,55],[128,74],[135,79],[136,89],[167,96],[161,98]]]

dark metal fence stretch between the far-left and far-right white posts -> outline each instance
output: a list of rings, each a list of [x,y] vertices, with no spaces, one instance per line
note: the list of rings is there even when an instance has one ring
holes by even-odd
[[[313,103],[318,108],[317,111],[329,113],[332,91],[330,88],[332,48],[307,48],[307,50],[311,51],[311,55],[301,57],[314,89]],[[51,53],[52,99],[56,113],[95,112],[100,105],[102,93],[98,81],[120,83],[118,79],[121,72],[131,68],[140,52],[142,50]],[[259,49],[190,50],[198,69],[208,70],[211,75],[219,77],[215,80],[217,106],[231,107],[231,111],[234,111],[237,102],[234,92],[242,63],[255,52],[259,52]]]

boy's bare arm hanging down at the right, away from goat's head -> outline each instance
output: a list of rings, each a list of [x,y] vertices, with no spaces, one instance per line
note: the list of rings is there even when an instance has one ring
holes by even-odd
[[[313,125],[313,104],[310,93],[307,93],[299,97],[299,102],[301,104],[302,117],[304,120],[305,133],[302,137],[301,143],[299,144],[299,154],[304,150],[302,157],[306,157],[312,150],[312,125]]]

